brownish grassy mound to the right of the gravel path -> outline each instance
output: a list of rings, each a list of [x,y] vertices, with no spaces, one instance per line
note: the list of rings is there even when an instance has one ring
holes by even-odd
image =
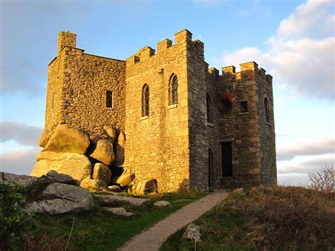
[[[195,221],[196,250],[334,250],[335,198],[303,187],[235,191]],[[182,228],[161,250],[194,250]]]

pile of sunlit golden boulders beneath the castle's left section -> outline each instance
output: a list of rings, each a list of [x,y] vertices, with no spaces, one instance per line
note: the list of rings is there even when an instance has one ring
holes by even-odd
[[[105,134],[92,140],[86,132],[67,124],[45,132],[40,139],[44,148],[36,157],[31,175],[40,177],[54,170],[70,175],[91,192],[108,189],[112,192],[128,189],[136,194],[158,192],[157,180],[136,180],[134,173],[123,171],[124,133],[111,125],[103,129]]]

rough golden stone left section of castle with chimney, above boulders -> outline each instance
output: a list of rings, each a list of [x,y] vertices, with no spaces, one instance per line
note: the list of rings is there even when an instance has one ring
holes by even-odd
[[[88,132],[91,139],[101,136],[102,127],[109,124],[124,131],[126,63],[69,46],[76,45],[75,38],[73,33],[59,34],[61,49],[49,66],[46,127],[70,124]],[[106,91],[112,91],[112,107],[106,107]],[[53,111],[52,95],[57,100]]]

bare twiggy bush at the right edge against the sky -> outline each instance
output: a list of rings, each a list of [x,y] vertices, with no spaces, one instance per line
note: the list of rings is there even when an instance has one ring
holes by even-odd
[[[331,194],[335,191],[334,164],[325,164],[322,170],[309,173],[308,177],[310,177],[310,182],[312,183],[310,188],[323,192],[324,194]]]

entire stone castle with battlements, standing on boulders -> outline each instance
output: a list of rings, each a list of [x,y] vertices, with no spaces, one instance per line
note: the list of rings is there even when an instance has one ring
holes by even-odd
[[[124,132],[124,170],[160,192],[276,184],[272,77],[255,62],[208,69],[192,33],[126,61],[84,53],[59,33],[48,66],[45,132],[69,124],[90,139]]]

